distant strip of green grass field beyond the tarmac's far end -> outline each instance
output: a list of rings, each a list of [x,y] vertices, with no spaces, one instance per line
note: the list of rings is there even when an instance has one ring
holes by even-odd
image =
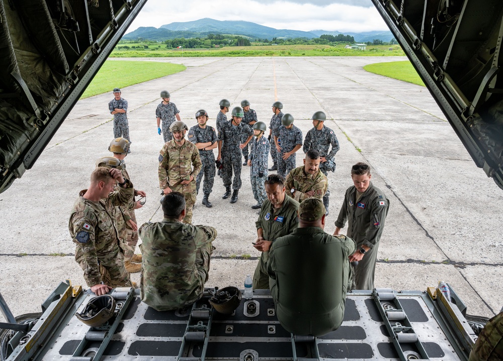
[[[181,57],[182,49],[166,48],[164,44],[147,45],[142,43],[119,44],[118,46],[135,46],[135,49],[117,49],[110,57],[138,58],[138,57]],[[138,46],[140,48],[138,48]],[[389,50],[392,49],[392,50]],[[254,45],[254,46],[226,46],[211,49],[184,49],[184,57],[219,57],[219,56],[404,56],[399,45],[367,46],[366,50],[346,49],[344,44],[330,45]]]

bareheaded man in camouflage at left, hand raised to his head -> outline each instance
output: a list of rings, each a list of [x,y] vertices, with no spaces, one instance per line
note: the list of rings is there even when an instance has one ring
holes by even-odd
[[[115,183],[119,189],[114,191]],[[82,190],[73,204],[68,229],[75,243],[75,261],[96,295],[115,287],[132,287],[124,268],[117,226],[117,206],[133,198],[133,184],[119,169],[96,168],[89,189]]]

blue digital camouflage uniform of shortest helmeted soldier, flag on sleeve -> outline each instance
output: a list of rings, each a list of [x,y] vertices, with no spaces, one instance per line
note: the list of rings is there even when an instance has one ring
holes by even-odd
[[[255,138],[250,141],[251,161],[250,180],[253,196],[258,204],[262,204],[267,199],[266,188],[264,182],[267,177],[267,163],[269,158],[269,141],[264,135],[259,139]],[[262,172],[262,177],[260,176]]]

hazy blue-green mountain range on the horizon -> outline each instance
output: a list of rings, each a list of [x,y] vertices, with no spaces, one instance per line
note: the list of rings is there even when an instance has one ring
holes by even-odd
[[[288,29],[274,29],[267,26],[247,22],[247,21],[219,21],[209,18],[199,19],[189,22],[177,22],[162,25],[160,28],[140,27],[122,37],[125,40],[137,38],[163,41],[175,38],[196,38],[205,37],[208,34],[232,34],[249,38],[269,39],[273,38],[318,38],[320,35],[351,35],[357,43],[373,41],[379,39],[388,42],[393,39],[390,31],[372,31],[366,33],[341,33],[339,31],[313,30],[299,31]]]

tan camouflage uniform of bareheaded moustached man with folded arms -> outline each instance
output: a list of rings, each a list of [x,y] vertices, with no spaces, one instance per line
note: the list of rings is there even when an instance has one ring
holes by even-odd
[[[286,176],[285,188],[286,194],[295,199],[297,202],[302,202],[304,199],[309,198],[306,192],[314,191],[313,198],[323,198],[328,187],[328,180],[326,176],[318,169],[315,174],[306,173],[304,166],[294,168]],[[291,190],[295,189],[292,194]]]

